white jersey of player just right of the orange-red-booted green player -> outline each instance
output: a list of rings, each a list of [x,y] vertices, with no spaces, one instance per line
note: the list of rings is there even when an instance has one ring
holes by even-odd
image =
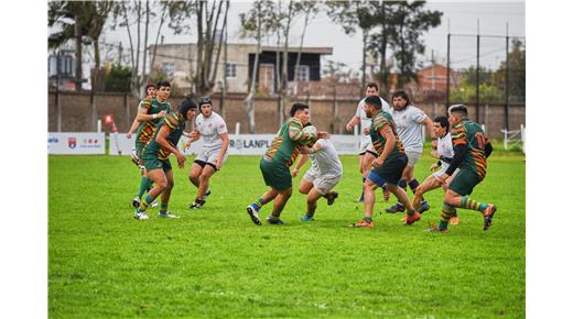
[[[394,120],[396,131],[404,145],[404,151],[422,153],[424,147],[422,122],[426,118],[424,111],[414,106],[408,106],[400,111],[392,108],[390,114]]]

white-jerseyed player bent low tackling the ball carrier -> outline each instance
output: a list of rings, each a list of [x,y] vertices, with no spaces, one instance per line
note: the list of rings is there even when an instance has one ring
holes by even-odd
[[[316,128],[307,125],[303,129],[305,133],[316,134]],[[333,205],[338,197],[338,193],[332,190],[343,177],[343,164],[336,148],[329,140],[320,139],[310,147],[303,147],[303,154],[292,170],[292,176],[299,174],[299,169],[311,157],[311,168],[306,170],[299,185],[299,191],[306,196],[306,213],[301,217],[302,221],[314,220],[316,202],[321,197],[326,198],[328,205]]]

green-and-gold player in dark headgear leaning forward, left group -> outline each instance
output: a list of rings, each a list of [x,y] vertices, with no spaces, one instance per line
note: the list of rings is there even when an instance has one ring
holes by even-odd
[[[141,158],[145,164],[149,178],[155,186],[148,193],[145,200],[136,211],[136,219],[145,220],[148,206],[161,194],[160,217],[176,218],[167,211],[171,189],[173,188],[173,169],[169,161],[171,153],[177,157],[177,165],[183,168],[185,165],[185,156],[177,150],[177,143],[185,129],[185,121],[190,121],[195,116],[197,106],[190,98],[183,99],[179,106],[177,112],[169,113],[158,125],[151,141],[143,148]]]

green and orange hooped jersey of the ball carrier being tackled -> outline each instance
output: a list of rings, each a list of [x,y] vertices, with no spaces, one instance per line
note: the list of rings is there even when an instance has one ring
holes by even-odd
[[[301,152],[301,146],[316,141],[316,134],[304,132],[302,122],[296,118],[290,118],[282,124],[271,145],[264,155],[273,162],[290,167]],[[291,139],[291,135],[292,139]]]

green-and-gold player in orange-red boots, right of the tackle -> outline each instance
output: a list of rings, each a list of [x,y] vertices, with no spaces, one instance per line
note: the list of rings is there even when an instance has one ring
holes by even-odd
[[[370,127],[370,138],[377,158],[372,162],[372,168],[368,173],[368,177],[364,183],[364,218],[352,227],[372,228],[372,209],[376,201],[375,190],[385,184],[388,190],[392,193],[398,200],[407,208],[406,224],[412,224],[420,220],[420,213],[417,212],[406,191],[398,187],[398,183],[402,176],[402,172],[408,164],[408,156],[398,133],[392,116],[382,111],[382,103],[377,96],[367,97],[365,99],[365,112],[369,119],[372,119]]]

